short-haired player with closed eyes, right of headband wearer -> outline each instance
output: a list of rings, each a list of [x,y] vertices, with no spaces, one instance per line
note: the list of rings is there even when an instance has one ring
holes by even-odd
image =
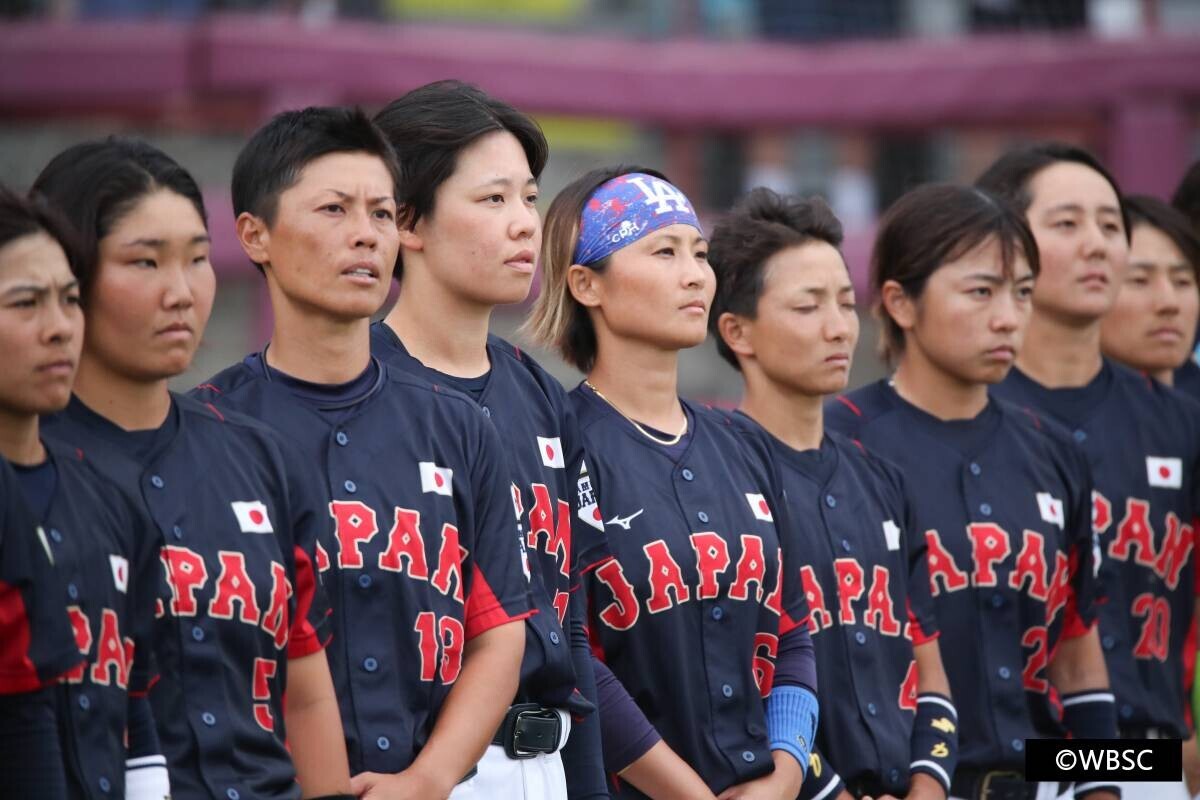
[[[959,722],[925,539],[899,470],[822,420],[858,342],[840,243],[821,199],[752,191],[713,230],[709,329],[745,380],[737,423],[766,440],[792,516],[820,531],[784,540],[802,565],[824,710],[802,796],[942,799]]]

